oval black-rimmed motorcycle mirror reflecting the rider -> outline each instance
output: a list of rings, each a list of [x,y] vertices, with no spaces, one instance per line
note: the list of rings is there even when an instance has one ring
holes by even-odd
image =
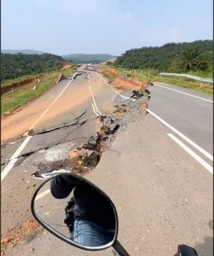
[[[46,230],[80,249],[118,246],[113,202],[81,176],[64,173],[44,181],[33,195],[31,211]]]

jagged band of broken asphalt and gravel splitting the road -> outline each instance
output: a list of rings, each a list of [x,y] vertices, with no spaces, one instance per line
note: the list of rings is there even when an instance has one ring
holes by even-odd
[[[56,164],[53,163],[51,168],[55,170],[60,168],[71,169],[71,173],[84,175],[96,167],[102,153],[110,148],[117,134],[126,131],[129,122],[140,120],[146,114],[147,93],[133,90],[131,98],[135,98],[135,101],[121,101],[120,96],[118,96],[114,111],[111,114],[99,116],[100,130],[94,132],[87,143],[69,152],[68,155],[71,161],[65,159],[60,164],[53,165]],[[68,162],[70,165],[68,165]],[[50,164],[48,167],[50,168]],[[33,176],[40,177],[40,174],[45,170],[47,170],[47,166],[34,173]]]

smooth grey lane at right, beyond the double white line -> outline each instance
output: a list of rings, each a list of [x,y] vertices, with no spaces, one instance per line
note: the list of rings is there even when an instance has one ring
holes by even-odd
[[[213,154],[212,95],[164,83],[155,83],[149,91],[151,100],[148,108],[151,111]]]

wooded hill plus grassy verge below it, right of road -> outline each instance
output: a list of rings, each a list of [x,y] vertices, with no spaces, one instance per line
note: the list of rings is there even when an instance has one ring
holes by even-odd
[[[106,67],[127,73],[143,82],[163,82],[213,94],[213,85],[185,77],[160,76],[160,72],[185,73],[213,78],[213,40],[168,43],[161,47],[131,49]],[[131,69],[131,72],[124,71]],[[136,73],[134,72],[136,70]],[[143,76],[142,76],[143,75]]]

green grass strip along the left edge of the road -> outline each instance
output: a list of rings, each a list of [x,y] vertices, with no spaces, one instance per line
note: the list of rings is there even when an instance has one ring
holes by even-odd
[[[59,74],[70,75],[72,72],[73,68],[67,68],[59,70],[55,74],[51,74],[40,83],[36,83],[36,90],[33,90],[34,83],[28,83],[24,86],[21,86],[20,88],[14,88],[14,99],[11,91],[4,93],[3,95],[1,95],[1,115],[13,108],[16,108],[21,104],[28,102],[29,100],[40,95],[44,91],[47,91],[49,88],[51,88]]]

